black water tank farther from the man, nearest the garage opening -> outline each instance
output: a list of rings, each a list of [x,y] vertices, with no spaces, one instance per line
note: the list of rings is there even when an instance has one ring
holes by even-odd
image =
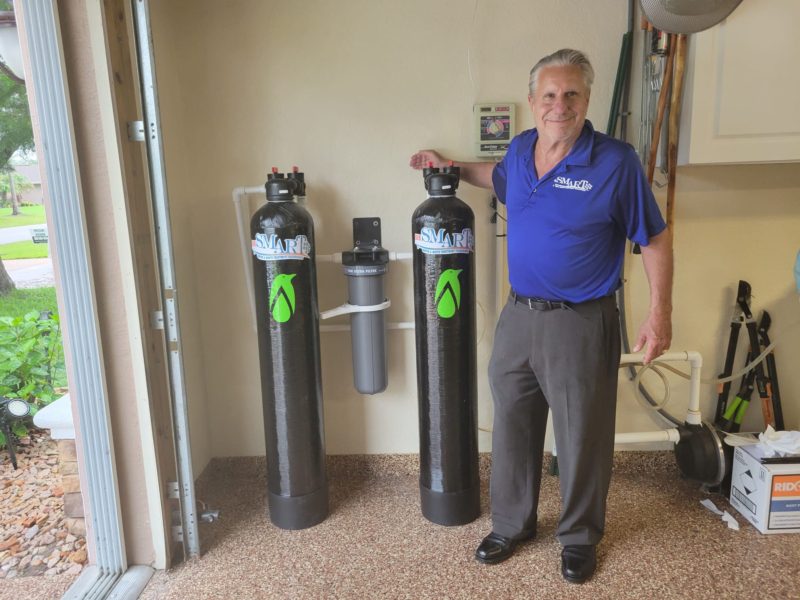
[[[273,169],[250,222],[269,516],[283,529],[328,514],[314,223],[297,186]]]

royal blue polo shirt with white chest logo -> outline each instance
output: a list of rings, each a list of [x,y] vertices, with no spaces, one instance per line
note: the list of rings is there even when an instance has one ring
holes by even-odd
[[[625,239],[647,246],[666,224],[629,144],[586,121],[570,153],[540,179],[538,133],[523,131],[492,172],[508,216],[508,273],[518,294],[584,302],[620,286]]]

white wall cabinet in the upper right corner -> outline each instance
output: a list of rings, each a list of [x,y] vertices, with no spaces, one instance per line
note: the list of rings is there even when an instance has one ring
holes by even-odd
[[[799,0],[744,0],[689,37],[679,164],[800,161]]]

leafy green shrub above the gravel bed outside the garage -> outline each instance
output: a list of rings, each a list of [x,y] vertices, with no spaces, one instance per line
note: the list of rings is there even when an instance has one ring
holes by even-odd
[[[52,287],[0,296],[0,396],[28,401],[33,413],[67,384],[57,310]],[[14,433],[26,435],[28,422],[15,421]],[[0,433],[0,447],[5,442]]]

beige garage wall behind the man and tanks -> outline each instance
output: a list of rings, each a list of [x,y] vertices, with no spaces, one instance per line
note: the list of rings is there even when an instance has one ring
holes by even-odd
[[[190,398],[192,443],[203,449],[196,463],[264,451],[232,189],[261,184],[273,165],[299,165],[318,254],[347,249],[351,220],[361,216],[381,217],[384,246],[408,252],[411,213],[425,198],[409,155],[433,147],[470,159],[476,102],[514,101],[518,128],[530,127],[527,73],[538,57],[564,46],[585,50],[594,62],[589,118],[603,130],[626,11],[624,0],[153,3],[181,310],[191,316],[182,325],[194,342],[185,347],[187,368],[205,393]],[[673,347],[702,351],[711,374],[724,350],[726,291],[734,280],[751,277],[759,305],[776,304],[776,320],[800,318],[786,272],[789,250],[800,245],[800,181],[794,167],[718,167],[685,169],[680,185]],[[486,192],[465,185],[459,195],[476,215],[479,412],[490,427],[494,226]],[[251,198],[251,209],[259,202]],[[748,244],[756,226],[767,239]],[[318,272],[321,309],[343,302],[339,268],[319,265]],[[638,321],[647,295],[635,265],[631,280]],[[391,265],[388,294],[389,320],[412,320],[409,265]],[[329,453],[418,450],[413,332],[388,338],[389,387],[361,396],[351,383],[349,337],[323,334]],[[800,389],[788,370],[799,353],[794,343],[780,349],[787,396]],[[676,395],[680,412],[680,386]],[[796,426],[797,409],[787,413]],[[651,428],[623,391],[619,430]],[[483,449],[490,441],[481,433]]]

